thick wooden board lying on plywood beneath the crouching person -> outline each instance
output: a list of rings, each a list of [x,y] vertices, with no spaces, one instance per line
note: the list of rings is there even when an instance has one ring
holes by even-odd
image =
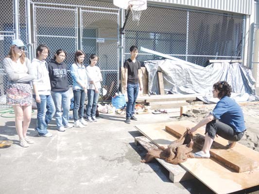
[[[181,135],[186,131],[186,127],[193,126],[195,126],[195,123],[190,121],[177,121],[174,124],[166,125],[166,130],[176,137],[181,137]],[[200,137],[204,139],[204,131],[204,129],[200,128],[193,132],[193,137],[195,140],[194,145],[197,145],[199,148],[202,148],[203,143],[200,144],[200,141],[197,141],[197,137],[199,137],[199,140],[201,140]],[[221,139],[223,138],[216,137],[214,139],[210,149],[211,157],[215,158],[219,162],[222,162],[224,165],[227,165],[229,168],[234,169],[238,173],[250,171],[258,167],[257,161],[249,159],[246,155],[241,154],[233,149],[226,149],[226,145]],[[224,145],[221,144],[222,142]]]

